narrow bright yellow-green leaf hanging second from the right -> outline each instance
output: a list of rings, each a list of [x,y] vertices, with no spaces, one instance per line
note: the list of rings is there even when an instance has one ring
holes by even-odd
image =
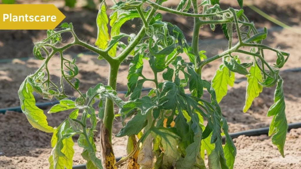
[[[255,97],[258,97],[259,93],[262,92],[262,86],[259,82],[262,82],[261,71],[258,66],[254,64],[254,66],[250,68],[250,74],[247,75],[247,94],[244,112],[247,112]]]

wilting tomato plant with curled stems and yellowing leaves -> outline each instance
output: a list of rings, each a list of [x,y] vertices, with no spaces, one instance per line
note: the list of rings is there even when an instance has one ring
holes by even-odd
[[[103,2],[97,17],[98,38],[95,46],[77,38],[71,23],[63,23],[59,30],[48,30],[48,37],[35,44],[33,54],[45,62],[24,80],[18,93],[22,111],[33,127],[53,133],[50,168],[72,168],[72,136],[75,134],[79,134],[78,145],[83,148],[82,156],[87,160],[87,168],[116,168],[124,161],[128,162],[128,168],[206,168],[205,155],[209,168],[233,168],[236,148],[228,133],[228,124],[222,116],[219,102],[227,94],[228,85],[233,86],[234,73],[247,77],[244,112],[250,108],[263,87],[277,85],[275,103],[268,110],[268,116],[273,116],[269,136],[272,136],[272,143],[284,156],[288,126],[284,112],[283,80],[278,73],[289,54],[262,45],[267,29],[258,32],[242,9],[222,10],[218,0],[203,0],[200,4],[197,0],[182,0],[174,10],[163,7],[164,1],[119,1],[111,7],[110,35],[106,5]],[[238,2],[242,7],[242,0]],[[192,12],[189,11],[191,6]],[[192,44],[187,43],[178,26],[164,22],[163,15],[156,14],[157,10],[193,17]],[[135,35],[120,33],[120,27],[133,18],[141,19],[143,26],[140,31]],[[199,30],[205,25],[213,30],[221,25],[229,41],[227,50],[210,58],[206,57],[206,51],[198,48]],[[61,44],[61,34],[65,32],[70,32],[74,39],[67,45]],[[128,44],[122,43],[122,38],[128,38]],[[63,55],[63,51],[73,45],[85,47],[99,54],[98,59],[107,61],[110,66],[107,86],[98,84],[86,93],[80,91],[80,82],[76,78],[79,69],[75,59],[68,60]],[[117,48],[122,49],[118,55]],[[250,48],[250,51],[246,48]],[[270,65],[265,60],[265,50],[275,52],[275,64]],[[189,63],[178,56],[181,53],[187,54]],[[51,81],[48,69],[48,62],[55,54],[61,58],[59,82]],[[240,54],[249,55],[252,60],[241,63]],[[129,97],[129,101],[124,102],[117,97],[116,79],[119,65],[129,55],[133,56],[127,76],[126,97]],[[211,83],[203,80],[202,68],[218,59],[222,59],[222,63]],[[142,73],[144,60],[149,62],[154,72],[153,79],[146,78]],[[158,81],[159,72],[163,72],[164,82]],[[75,101],[67,99],[69,96],[65,94],[64,81],[79,93]],[[154,82],[156,87],[147,96],[141,97],[145,81]],[[58,127],[49,126],[43,111],[35,106],[33,91],[46,99],[54,97],[60,100],[48,113],[73,109],[69,118]],[[211,95],[211,100],[202,99],[204,91]],[[101,119],[101,159],[95,155],[93,141],[97,118],[92,104],[96,100],[99,100],[98,117]],[[114,104],[119,107],[119,116],[123,119],[134,115],[116,134],[116,137],[128,136],[128,155],[117,163],[111,143]],[[82,112],[81,118],[78,117],[79,112]],[[91,127],[86,123],[88,119]],[[222,145],[222,136],[226,138],[225,145]]]

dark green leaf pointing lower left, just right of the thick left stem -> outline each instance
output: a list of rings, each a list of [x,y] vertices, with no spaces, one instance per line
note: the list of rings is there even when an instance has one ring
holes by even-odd
[[[147,124],[146,115],[137,114],[116,134],[116,137],[137,135]]]

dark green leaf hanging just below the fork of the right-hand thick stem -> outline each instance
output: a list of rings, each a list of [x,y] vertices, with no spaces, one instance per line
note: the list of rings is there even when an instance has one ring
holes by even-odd
[[[203,84],[200,75],[198,75],[191,66],[187,66],[189,76],[189,90],[195,97],[202,97]]]

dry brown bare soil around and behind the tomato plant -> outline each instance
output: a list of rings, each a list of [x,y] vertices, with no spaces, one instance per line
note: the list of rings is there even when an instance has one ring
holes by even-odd
[[[176,1],[170,1],[172,6]],[[25,1],[17,1],[18,3],[28,3]],[[39,2],[39,1],[38,1]],[[81,1],[80,1],[81,2]],[[234,0],[221,0],[222,7],[232,6],[237,8],[237,2]],[[244,1],[252,3],[266,13],[277,17],[279,20],[289,25],[299,26],[301,17],[301,2],[294,1]],[[263,3],[264,2],[264,3]],[[32,1],[36,3],[36,1]],[[57,6],[62,6],[62,1],[51,1]],[[82,3],[82,2],[81,2]],[[262,3],[262,4],[261,4]],[[79,37],[93,44],[97,36],[97,27],[95,19],[97,11],[90,11],[82,8],[68,9],[61,8],[61,11],[66,15],[63,22],[72,22]],[[272,27],[273,23],[266,21],[250,8],[244,8],[250,20],[254,20],[258,27]],[[192,34],[192,25],[190,18],[175,17],[174,15],[166,14],[163,18],[167,21],[178,25],[184,32],[188,41]],[[135,32],[139,26],[131,27],[132,23],[138,24],[139,20],[134,20],[123,26],[122,32]],[[130,28],[129,28],[130,27]],[[209,27],[205,27],[200,32],[201,43],[200,49],[206,50],[208,57],[214,56],[226,49],[227,42],[223,39],[222,32],[216,30],[212,32]],[[0,59],[21,58],[32,56],[33,42],[45,38],[44,30],[1,30],[0,31]],[[65,35],[69,38],[69,35]],[[218,40],[216,40],[218,39]],[[269,32],[265,44],[273,48],[280,47],[282,50],[291,54],[290,59],[284,66],[284,69],[300,67],[301,35],[296,34],[291,30],[280,30]],[[206,41],[202,41],[206,40]],[[14,48],[17,46],[17,49]],[[68,57],[77,57],[76,54],[85,52],[84,49],[74,47],[66,52]],[[187,56],[182,55],[187,59]],[[269,63],[274,63],[276,55],[271,52],[266,52],[265,57]],[[241,58],[248,59],[241,55]],[[58,80],[60,74],[56,69],[58,57],[54,57],[49,64],[52,80]],[[203,69],[202,78],[211,80],[218,68],[221,60],[217,60]],[[19,106],[20,101],[17,95],[17,90],[24,78],[33,73],[42,61],[29,59],[27,61],[13,60],[11,63],[0,63],[0,108]],[[83,92],[89,87],[93,87],[98,83],[107,83],[108,67],[103,60],[97,60],[97,56],[84,54],[76,58],[76,64],[79,67],[78,78],[81,81],[80,88]],[[119,70],[117,89],[125,91],[127,89],[126,75],[128,64],[124,63]],[[143,74],[148,78],[154,75],[149,66],[144,66]],[[282,72],[281,76],[284,79],[284,92],[286,101],[286,114],[288,123],[301,121],[301,73],[300,72]],[[162,77],[162,76],[158,76]],[[237,78],[241,76],[237,75]],[[159,78],[163,81],[162,78]],[[144,87],[154,87],[152,83],[146,83]],[[224,117],[229,124],[229,132],[244,131],[253,128],[268,127],[271,118],[266,117],[268,108],[273,104],[273,94],[275,88],[264,88],[263,92],[256,98],[247,113],[243,113],[242,109],[245,101],[246,82],[234,84],[234,88],[229,88],[228,95],[221,101],[221,108]],[[76,93],[67,90],[70,95]],[[144,94],[146,94],[144,92]],[[124,99],[124,94],[119,94],[119,97]],[[209,99],[209,95],[204,95],[205,99]],[[36,97],[36,102],[46,102],[41,97]],[[48,108],[50,109],[50,107]],[[51,126],[58,126],[70,112],[59,112],[56,114],[47,114],[48,109],[45,109],[45,114],[48,118],[48,123]],[[116,109],[117,112],[117,109]],[[122,127],[120,119],[114,122],[113,133],[116,134]],[[44,133],[31,127],[23,113],[8,111],[6,114],[0,114],[0,168],[48,168],[48,157],[51,152],[51,134]],[[78,137],[78,136],[77,136]],[[81,158],[82,151],[75,142],[75,155],[73,164],[83,164],[85,161]],[[113,149],[116,157],[126,155],[126,140],[127,138],[113,137]],[[95,141],[98,148],[97,155],[99,156],[99,134],[96,133]],[[272,145],[271,139],[265,135],[256,137],[240,136],[234,139],[237,146],[237,157],[235,168],[239,169],[299,169],[301,168],[301,130],[293,129],[287,134],[285,144],[285,158],[282,158],[277,148]]]

